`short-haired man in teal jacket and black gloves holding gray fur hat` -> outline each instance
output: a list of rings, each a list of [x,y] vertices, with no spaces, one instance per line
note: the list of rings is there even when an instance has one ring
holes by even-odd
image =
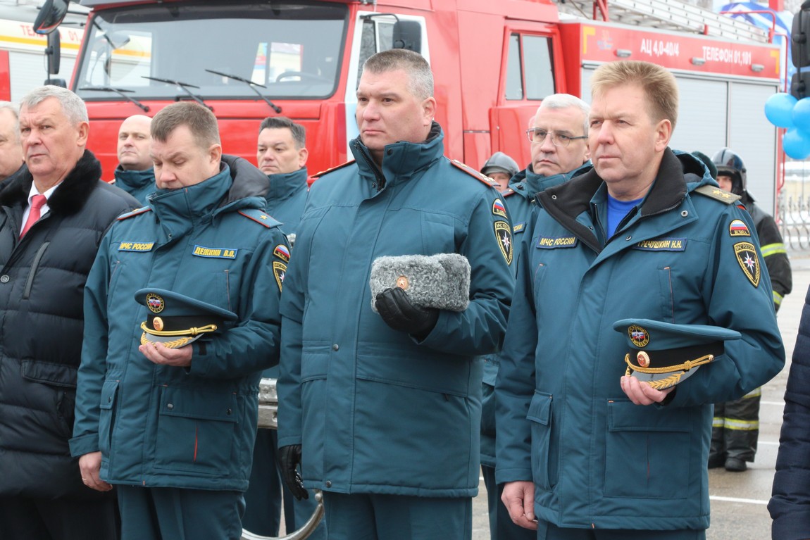
[[[309,189],[284,279],[279,459],[294,495],[323,491],[330,540],[472,535],[479,357],[501,346],[512,227],[488,178],[443,156],[435,113],[424,57],[369,57],[355,161]],[[466,258],[466,308],[431,307],[454,283],[421,288],[407,266],[424,256]],[[374,294],[382,257],[400,271]]]

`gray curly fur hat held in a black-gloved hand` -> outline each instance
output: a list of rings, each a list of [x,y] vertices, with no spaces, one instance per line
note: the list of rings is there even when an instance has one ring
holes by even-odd
[[[420,308],[464,311],[470,304],[470,263],[458,253],[377,257],[371,266],[371,308],[386,289],[399,287]]]

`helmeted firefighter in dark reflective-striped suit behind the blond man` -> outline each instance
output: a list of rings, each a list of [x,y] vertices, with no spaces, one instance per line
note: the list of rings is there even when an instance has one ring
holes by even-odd
[[[762,257],[770,274],[774,309],[778,311],[782,298],[793,287],[791,261],[787,258],[779,228],[774,218],[757,206],[748,193],[745,165],[740,156],[723,148],[714,155],[712,161],[717,167],[720,187],[740,195],[740,202],[751,214],[760,239]],[[757,388],[736,401],[714,404],[710,469],[724,466],[726,470],[741,472],[748,468],[746,461],[754,461],[759,436],[760,398],[761,389]]]

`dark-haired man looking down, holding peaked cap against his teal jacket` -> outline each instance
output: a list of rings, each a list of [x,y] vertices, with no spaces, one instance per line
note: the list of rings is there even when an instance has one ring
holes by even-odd
[[[124,540],[236,540],[289,248],[211,111],[168,105],[151,138],[157,191],[87,279],[70,450],[87,486],[118,486]]]

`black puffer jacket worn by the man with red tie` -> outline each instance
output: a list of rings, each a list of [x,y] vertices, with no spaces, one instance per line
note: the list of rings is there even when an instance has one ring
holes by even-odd
[[[0,495],[103,496],[83,485],[67,444],[83,288],[107,227],[139,203],[100,176],[85,151],[22,240],[28,168],[0,191]]]

